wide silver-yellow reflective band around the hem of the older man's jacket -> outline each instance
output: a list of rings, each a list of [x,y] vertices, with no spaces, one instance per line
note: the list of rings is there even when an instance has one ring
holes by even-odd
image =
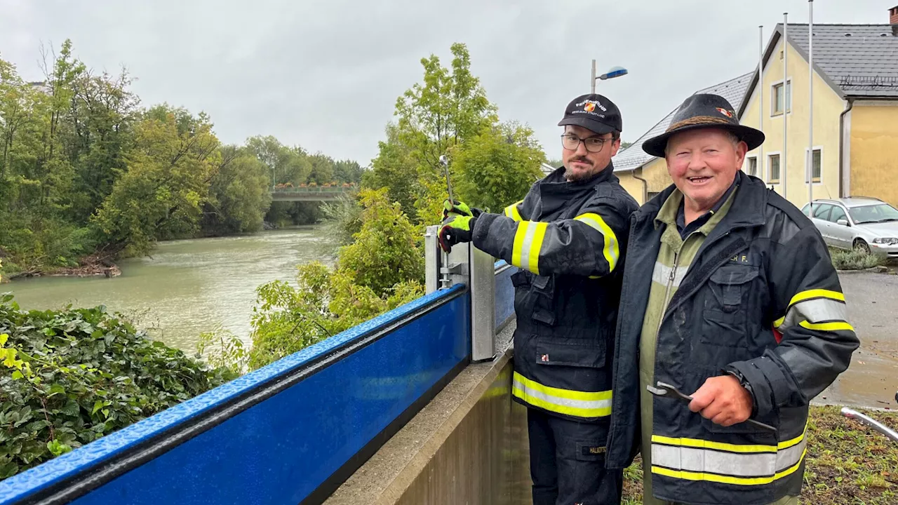
[[[776,446],[652,436],[652,473],[736,485],[769,484],[794,474],[805,458],[802,434]]]

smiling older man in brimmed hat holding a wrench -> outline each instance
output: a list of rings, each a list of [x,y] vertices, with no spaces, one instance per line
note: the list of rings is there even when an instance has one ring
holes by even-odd
[[[643,145],[674,184],[631,222],[607,462],[641,439],[645,503],[797,503],[808,403],[858,348],[820,233],[740,170],[763,140],[696,94]]]

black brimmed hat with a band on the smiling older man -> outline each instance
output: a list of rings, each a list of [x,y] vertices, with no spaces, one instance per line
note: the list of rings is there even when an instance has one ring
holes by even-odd
[[[732,132],[739,140],[748,144],[751,151],[764,143],[762,131],[739,124],[733,106],[717,94],[693,94],[674,113],[674,120],[667,131],[649,138],[642,144],[642,150],[649,155],[665,157],[667,140],[675,133],[699,128],[722,128]]]

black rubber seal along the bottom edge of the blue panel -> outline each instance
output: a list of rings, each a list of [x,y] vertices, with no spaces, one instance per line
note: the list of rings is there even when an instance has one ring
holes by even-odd
[[[330,477],[315,488],[315,491],[305,497],[303,501],[300,501],[299,505],[320,505],[330,498],[330,495],[337,491],[339,486],[343,485],[352,474],[356,473],[356,470],[362,465],[365,465],[365,462],[371,459],[371,456],[374,456],[374,453],[376,453],[378,449],[383,447],[383,444],[387,443],[393,435],[401,430],[412,418],[418,415],[418,412],[421,412],[421,409],[423,409],[427,403],[430,403],[436,394],[443,391],[443,388],[452,382],[452,379],[458,376],[470,362],[470,359],[463,359],[458,365],[455,365],[449,370],[449,373],[436,381],[436,384],[432,385],[425,394],[422,394],[421,397],[418,398],[418,400],[411,403],[408,409],[403,411],[399,417],[388,424],[383,431],[375,435],[371,441],[365,444],[365,447],[362,447],[354,456],[350,457],[346,463],[337,469],[336,472],[330,474]]]

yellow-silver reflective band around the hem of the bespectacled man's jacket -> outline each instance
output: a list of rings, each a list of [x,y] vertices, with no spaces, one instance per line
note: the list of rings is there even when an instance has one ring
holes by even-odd
[[[550,412],[574,417],[596,418],[612,414],[611,391],[574,391],[540,383],[515,372],[512,394]]]

